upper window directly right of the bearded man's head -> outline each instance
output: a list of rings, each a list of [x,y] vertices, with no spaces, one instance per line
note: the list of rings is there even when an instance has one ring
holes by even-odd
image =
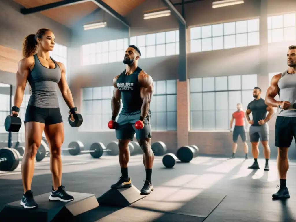
[[[131,37],[131,44],[139,47],[141,58],[179,54],[179,30]]]

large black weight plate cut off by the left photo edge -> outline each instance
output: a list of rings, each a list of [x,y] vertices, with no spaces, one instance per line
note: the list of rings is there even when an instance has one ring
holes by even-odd
[[[10,148],[2,148],[0,149],[0,159],[4,161],[0,162],[0,171],[13,171],[19,165],[19,156],[17,152],[14,152],[13,149]]]

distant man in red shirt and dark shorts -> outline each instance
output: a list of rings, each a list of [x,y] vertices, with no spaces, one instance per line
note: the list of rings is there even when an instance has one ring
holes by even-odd
[[[244,111],[242,111],[242,104],[237,104],[237,111],[232,114],[232,118],[230,121],[230,130],[232,129],[233,120],[235,120],[235,126],[233,130],[233,145],[232,145],[232,156],[230,158],[235,158],[235,152],[237,152],[237,139],[239,135],[242,138],[244,143],[244,152],[246,154],[246,159],[248,159],[248,144],[247,144],[247,132],[245,129],[245,122],[244,122]]]

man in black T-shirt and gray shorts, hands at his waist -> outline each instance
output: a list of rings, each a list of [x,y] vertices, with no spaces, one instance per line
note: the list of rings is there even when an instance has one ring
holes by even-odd
[[[253,97],[255,98],[248,104],[246,111],[246,119],[251,124],[250,126],[250,141],[252,143],[252,154],[254,157],[254,163],[249,169],[260,169],[258,164],[259,156],[259,138],[263,145],[264,156],[265,156],[265,167],[264,170],[269,170],[268,160],[270,156],[270,148],[268,145],[268,134],[269,128],[267,122],[274,115],[274,109],[271,106],[265,104],[265,100],[261,98],[261,89],[255,87],[253,90]],[[252,112],[253,119],[250,120],[250,114]],[[266,116],[266,113],[268,115]]]

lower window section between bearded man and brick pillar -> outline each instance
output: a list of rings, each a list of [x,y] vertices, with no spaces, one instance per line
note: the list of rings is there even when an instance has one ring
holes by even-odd
[[[152,130],[177,130],[177,81],[154,82],[150,103]]]

